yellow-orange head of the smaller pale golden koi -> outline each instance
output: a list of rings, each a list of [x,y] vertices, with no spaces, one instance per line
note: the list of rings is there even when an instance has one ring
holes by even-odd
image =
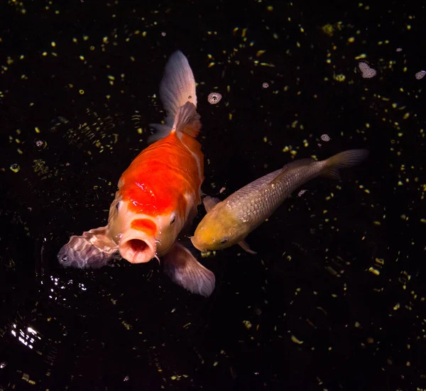
[[[241,223],[222,205],[209,211],[195,229],[191,241],[200,251],[222,250],[238,243],[241,236]]]

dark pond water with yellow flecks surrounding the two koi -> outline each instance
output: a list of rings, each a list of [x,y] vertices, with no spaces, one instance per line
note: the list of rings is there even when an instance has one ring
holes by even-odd
[[[424,7],[66,3],[0,5],[0,390],[425,390]],[[205,193],[290,151],[371,151],[288,199],[249,236],[257,255],[197,253],[217,278],[209,299],[155,262],[56,260],[106,223],[164,117],[176,49],[199,83]]]

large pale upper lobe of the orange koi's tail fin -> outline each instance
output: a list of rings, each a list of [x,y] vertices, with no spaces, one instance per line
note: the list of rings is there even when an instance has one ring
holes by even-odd
[[[170,56],[165,65],[165,74],[160,83],[160,99],[163,102],[167,116],[165,124],[151,124],[158,133],[148,138],[148,142],[160,140],[168,136],[180,107],[188,101],[197,108],[197,94],[195,79],[187,58],[180,50]]]

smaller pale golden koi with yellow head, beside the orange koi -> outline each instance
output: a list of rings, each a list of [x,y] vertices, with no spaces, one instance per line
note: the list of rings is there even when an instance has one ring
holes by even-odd
[[[361,163],[367,150],[346,150],[328,158],[295,160],[231,194],[224,201],[205,197],[207,214],[195,229],[192,244],[200,251],[222,250],[238,243],[255,253],[244,241],[273,211],[306,182],[318,176],[340,179],[339,169]]]

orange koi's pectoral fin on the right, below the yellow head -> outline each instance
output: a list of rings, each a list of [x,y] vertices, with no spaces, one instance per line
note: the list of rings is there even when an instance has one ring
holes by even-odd
[[[190,250],[176,242],[173,248],[163,257],[164,272],[175,284],[192,293],[209,297],[214,291],[215,277],[213,272],[204,268]]]

